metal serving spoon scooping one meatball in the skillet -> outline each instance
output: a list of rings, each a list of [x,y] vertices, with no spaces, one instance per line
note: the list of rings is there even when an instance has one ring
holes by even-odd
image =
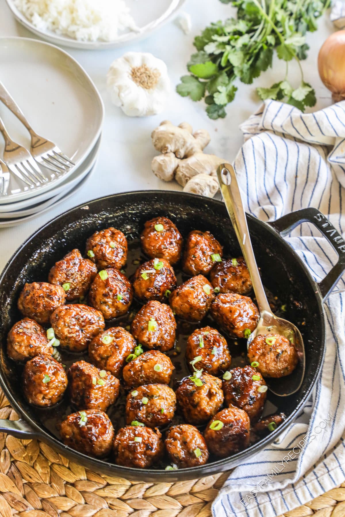
[[[248,338],[248,347],[254,337],[258,336],[258,334],[281,334],[294,343],[297,348],[298,363],[295,370],[290,375],[277,379],[265,379],[268,388],[273,393],[279,397],[287,397],[298,391],[304,378],[305,351],[301,332],[299,332],[298,328],[292,323],[275,316],[269,307],[251,245],[247,219],[233,166],[229,163],[219,165],[217,176],[225,206],[227,207],[236,237],[239,245],[241,246],[242,253],[250,273],[260,311],[260,320],[257,328]]]

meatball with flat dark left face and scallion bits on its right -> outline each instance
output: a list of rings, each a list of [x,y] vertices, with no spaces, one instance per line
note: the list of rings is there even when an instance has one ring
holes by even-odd
[[[86,361],[74,362],[67,372],[71,403],[77,409],[107,411],[118,397],[119,380]]]

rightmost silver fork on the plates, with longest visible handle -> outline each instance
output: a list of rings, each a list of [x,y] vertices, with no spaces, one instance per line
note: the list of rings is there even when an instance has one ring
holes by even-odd
[[[22,124],[26,127],[31,136],[31,155],[35,160],[50,169],[53,172],[61,173],[69,170],[75,163],[66,156],[61,149],[53,142],[46,138],[39,136],[33,128],[29,125],[24,114],[19,108],[18,104],[12,99],[9,92],[0,81],[0,100],[7,106],[7,108],[16,115]]]

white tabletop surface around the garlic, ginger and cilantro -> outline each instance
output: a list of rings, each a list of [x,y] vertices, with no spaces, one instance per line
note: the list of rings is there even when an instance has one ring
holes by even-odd
[[[180,187],[175,183],[164,183],[151,172],[150,164],[155,150],[151,144],[150,135],[161,120],[170,119],[175,124],[186,120],[195,129],[206,128],[212,138],[206,150],[227,161],[233,160],[243,142],[238,126],[257,109],[260,103],[255,93],[255,87],[270,86],[283,78],[285,64],[275,59],[273,68],[255,80],[254,85],[244,85],[238,82],[236,99],[227,109],[228,116],[225,119],[210,120],[202,102],[195,103],[189,98],[180,97],[174,91],[174,87],[179,82],[179,77],[187,73],[186,63],[194,50],[193,36],[199,34],[209,22],[226,19],[233,10],[219,0],[187,0],[184,10],[192,18],[192,31],[187,36],[178,24],[172,21],[148,39],[123,49],[81,51],[65,48],[91,75],[106,107],[97,169],[92,179],[71,199],[32,221],[0,230],[2,248],[0,270],[29,235],[53,217],[75,205],[115,192],[141,189],[179,189]],[[327,16],[320,20],[319,26],[316,33],[308,34],[307,41],[311,48],[307,61],[303,63],[305,80],[314,86],[318,97],[318,104],[314,109],[323,108],[331,103],[331,95],[319,79],[317,55],[322,42],[333,31],[333,26]],[[0,36],[32,36],[12,18],[5,0],[0,0]],[[131,118],[111,104],[105,85],[106,73],[112,60],[127,50],[152,52],[166,62],[172,82],[172,93],[166,110],[160,115]],[[292,65],[292,76],[294,73],[296,81],[298,81],[298,70]],[[23,95],[25,95],[24,89]]]

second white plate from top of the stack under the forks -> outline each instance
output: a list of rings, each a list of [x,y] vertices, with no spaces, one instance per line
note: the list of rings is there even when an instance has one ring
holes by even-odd
[[[86,174],[90,171],[90,169],[94,166],[96,159],[98,157],[99,146],[101,142],[101,135],[99,136],[95,147],[92,149],[91,153],[86,157],[81,165],[71,174],[62,184],[54,187],[48,192],[44,192],[43,194],[39,194],[35,197],[31,197],[30,199],[26,199],[24,201],[18,201],[17,203],[9,203],[8,205],[0,205],[0,219],[4,219],[6,217],[12,217],[13,213],[20,215],[23,209],[27,207],[37,207],[41,203],[46,200],[51,199],[61,192],[68,192],[71,188],[77,185]],[[9,216],[8,214],[11,214]]]

